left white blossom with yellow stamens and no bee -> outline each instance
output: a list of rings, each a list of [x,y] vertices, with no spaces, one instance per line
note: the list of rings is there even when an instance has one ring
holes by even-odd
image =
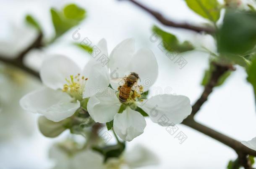
[[[107,55],[106,40],[100,40],[97,47]],[[63,55],[45,59],[40,77],[46,87],[28,93],[21,98],[20,104],[26,111],[42,114],[55,122],[72,116],[83,98],[106,88],[110,80],[107,67],[94,59],[82,70]]]

